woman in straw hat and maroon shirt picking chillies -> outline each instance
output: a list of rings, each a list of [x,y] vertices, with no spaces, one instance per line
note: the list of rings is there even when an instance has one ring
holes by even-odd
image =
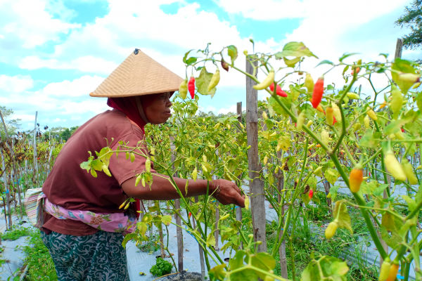
[[[142,143],[143,126],[162,124],[170,118],[170,97],[181,81],[135,49],[90,94],[108,97],[107,104],[113,110],[96,115],[73,133],[42,187],[41,238],[53,258],[58,280],[129,280],[122,240],[125,233],[136,228],[134,210],[139,206],[132,203],[124,212],[120,205],[129,197],[172,200],[179,195],[168,177],[156,174],[153,167],[151,190],[135,186],[136,175],[146,169],[146,158],[139,155],[132,162],[124,153],[119,157],[113,154],[110,175],[98,171],[96,178],[80,164],[87,161],[89,152],[95,156],[106,146],[117,150],[120,142],[140,146],[148,155]],[[184,190],[186,180],[174,180]],[[206,193],[207,181],[187,181],[188,197]],[[244,207],[241,191],[231,181],[211,181],[209,190],[222,204]]]

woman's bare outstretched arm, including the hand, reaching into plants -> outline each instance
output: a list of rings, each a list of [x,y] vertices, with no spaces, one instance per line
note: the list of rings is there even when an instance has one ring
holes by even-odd
[[[186,180],[184,178],[173,177],[179,190],[184,194],[186,181],[188,181],[188,194],[186,197],[204,195],[207,192],[206,180]],[[169,181],[169,176],[153,173],[153,184],[151,190],[148,185],[143,187],[141,184],[135,186],[136,178],[130,178],[122,183],[124,193],[129,197],[135,197],[143,200],[172,200],[179,198],[176,189]],[[238,186],[224,179],[210,181],[209,193],[212,194],[222,204],[236,204],[245,207],[245,198],[241,195]]]

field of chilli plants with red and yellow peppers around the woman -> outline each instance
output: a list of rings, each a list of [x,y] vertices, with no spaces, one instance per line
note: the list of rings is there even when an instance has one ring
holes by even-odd
[[[245,67],[235,64],[241,55]],[[345,54],[321,60],[324,76],[312,77],[301,68],[312,56],[302,42],[271,54],[241,54],[233,45],[188,52],[171,119],[146,126],[149,155],[124,143],[87,152],[81,169],[94,177],[106,176],[114,154],[146,157],[173,183],[174,176],[226,178],[245,195],[243,209],[212,194],[185,197],[188,185],[177,188],[179,200],[144,201],[136,231],[124,240],[131,280],[153,280],[157,255],[173,273],[188,269],[211,280],[422,280],[421,65]],[[197,114],[201,95],[224,94],[219,76],[232,72],[247,78],[246,110]],[[259,91],[267,98],[257,100]],[[42,185],[63,145],[37,126],[4,136],[0,183],[11,230],[2,240],[15,231],[12,214],[25,218],[19,195]],[[151,185],[151,166],[136,175],[139,188]],[[138,249],[139,259],[153,258],[145,268],[136,267]],[[28,280],[51,276],[51,266],[40,273],[30,259]]]

